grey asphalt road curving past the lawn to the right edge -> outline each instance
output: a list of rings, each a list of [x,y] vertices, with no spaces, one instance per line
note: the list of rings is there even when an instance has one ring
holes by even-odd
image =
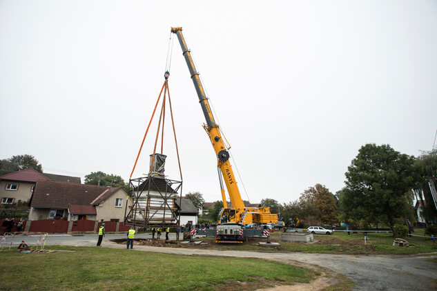
[[[170,234],[174,239],[175,234]],[[135,239],[150,238],[150,234],[139,234]],[[165,238],[164,236],[162,236]],[[110,241],[110,239],[124,239],[126,234],[107,234],[102,246],[104,248],[126,248]],[[16,237],[14,246],[21,240],[26,243],[35,243],[39,237]],[[72,237],[70,235],[49,235],[48,245],[95,246],[97,235],[84,235]],[[436,290],[437,263],[427,261],[436,258],[437,252],[432,254],[414,256],[359,256],[338,254],[307,254],[302,252],[272,253],[272,252],[246,252],[246,251],[217,251],[199,250],[190,248],[158,248],[135,245],[136,250],[148,252],[166,252],[169,254],[184,255],[211,255],[222,257],[248,257],[260,259],[274,259],[278,261],[297,261],[300,265],[321,267],[333,270],[336,273],[346,274],[356,283],[353,290]]]

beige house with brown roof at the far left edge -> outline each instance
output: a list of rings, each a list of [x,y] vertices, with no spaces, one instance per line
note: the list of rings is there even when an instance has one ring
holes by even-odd
[[[35,183],[39,179],[49,180],[32,168],[0,176],[0,203],[28,202],[32,196]]]

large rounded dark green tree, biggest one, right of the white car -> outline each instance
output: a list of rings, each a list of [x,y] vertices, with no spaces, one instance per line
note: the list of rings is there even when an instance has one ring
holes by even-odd
[[[418,180],[414,157],[390,145],[363,145],[352,160],[340,205],[346,217],[378,220],[393,231],[395,219],[411,211],[406,193]]]

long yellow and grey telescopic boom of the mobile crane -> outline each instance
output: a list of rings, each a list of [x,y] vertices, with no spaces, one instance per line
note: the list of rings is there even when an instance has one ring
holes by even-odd
[[[191,58],[191,52],[190,50],[188,50],[184,36],[182,35],[182,28],[171,28],[171,32],[175,33],[177,35],[177,39],[179,39],[182,53],[184,54],[188,70],[191,74],[191,79],[193,80],[193,84],[197,92],[197,97],[199,97],[200,106],[202,107],[202,111],[204,112],[204,117],[206,119],[207,125],[206,130],[208,131],[211,143],[213,144],[215,154],[217,154],[217,164],[222,171],[224,182],[226,184],[226,189],[228,190],[232,206],[233,208],[243,210],[244,203],[240,195],[240,190],[238,190],[237,181],[235,181],[235,176],[231,168],[231,163],[229,162],[229,152],[224,145],[224,141],[220,134],[219,126],[217,125],[217,123],[215,123],[213,112],[211,111],[208,103],[208,98],[206,97],[206,94],[204,92],[204,86],[202,86],[202,81],[200,81],[199,73],[197,72],[194,66],[193,59]]]

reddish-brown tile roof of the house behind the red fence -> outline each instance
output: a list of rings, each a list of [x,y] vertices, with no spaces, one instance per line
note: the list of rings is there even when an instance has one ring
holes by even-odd
[[[68,209],[68,205],[91,205],[91,202],[108,189],[110,188],[96,185],[38,180],[30,206]]]

